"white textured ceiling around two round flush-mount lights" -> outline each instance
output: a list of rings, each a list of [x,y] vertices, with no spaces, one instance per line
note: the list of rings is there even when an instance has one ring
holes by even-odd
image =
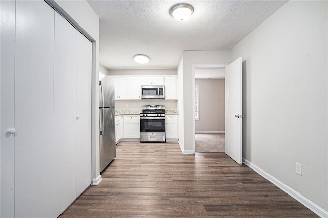
[[[286,1],[182,1],[194,7],[179,22],[177,0],[87,0],[100,18],[100,64],[108,69],[176,69],[182,51],[230,50]],[[145,54],[147,64],[132,57]]]

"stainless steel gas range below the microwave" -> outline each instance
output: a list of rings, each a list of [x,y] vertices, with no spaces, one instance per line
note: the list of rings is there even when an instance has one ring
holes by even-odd
[[[142,113],[140,113],[140,141],[165,142],[165,106],[142,106]]]

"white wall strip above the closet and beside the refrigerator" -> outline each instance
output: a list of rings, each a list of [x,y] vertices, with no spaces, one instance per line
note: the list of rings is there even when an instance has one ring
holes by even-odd
[[[92,41],[92,177],[100,175],[99,156],[99,17],[86,0],[47,0]]]

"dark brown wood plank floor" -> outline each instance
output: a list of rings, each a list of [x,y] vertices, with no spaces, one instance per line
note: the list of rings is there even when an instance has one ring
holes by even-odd
[[[119,143],[117,157],[60,217],[317,217],[224,153]]]

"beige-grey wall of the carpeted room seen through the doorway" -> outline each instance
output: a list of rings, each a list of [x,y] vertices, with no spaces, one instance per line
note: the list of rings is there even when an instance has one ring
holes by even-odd
[[[225,131],[225,80],[195,79],[195,84],[199,85],[199,120],[195,120],[195,131]]]

